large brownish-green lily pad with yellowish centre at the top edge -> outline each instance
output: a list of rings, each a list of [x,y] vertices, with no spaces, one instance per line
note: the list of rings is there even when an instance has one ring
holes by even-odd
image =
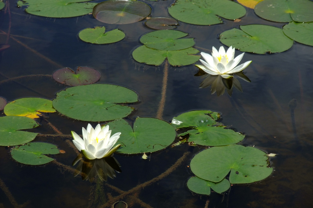
[[[146,18],[151,8],[139,1],[109,0],[97,4],[92,14],[100,22],[108,24],[129,24]]]

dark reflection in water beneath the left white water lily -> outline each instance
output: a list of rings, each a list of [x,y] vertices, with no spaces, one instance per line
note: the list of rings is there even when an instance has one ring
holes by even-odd
[[[83,157],[82,154],[77,156],[73,161],[73,166],[78,163],[76,167],[76,174],[81,174],[83,180],[89,179],[92,182],[97,176],[101,181],[107,181],[108,176],[112,179],[116,177],[116,172],[121,173],[120,163],[113,157],[113,154],[108,157],[100,159],[89,160]]]

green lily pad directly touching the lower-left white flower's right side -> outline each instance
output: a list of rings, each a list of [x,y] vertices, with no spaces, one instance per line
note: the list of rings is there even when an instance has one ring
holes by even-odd
[[[108,125],[112,134],[121,132],[116,144],[121,144],[122,148],[117,152],[124,154],[162,150],[172,144],[176,137],[173,126],[156,118],[137,117],[133,128],[124,119],[111,121]]]

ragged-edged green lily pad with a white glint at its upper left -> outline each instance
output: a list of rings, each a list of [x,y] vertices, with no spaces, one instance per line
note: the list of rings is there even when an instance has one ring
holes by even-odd
[[[226,126],[220,126],[216,120],[219,113],[212,111],[189,111],[172,119],[175,128],[186,128],[188,131],[179,134],[185,136],[189,134],[188,141],[204,146],[223,146],[236,144],[244,139],[244,135]],[[215,126],[213,126],[215,125]],[[219,126],[217,126],[219,125]]]

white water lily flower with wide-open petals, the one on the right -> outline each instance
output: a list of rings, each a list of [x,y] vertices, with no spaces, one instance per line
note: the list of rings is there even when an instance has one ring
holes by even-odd
[[[223,46],[221,46],[218,51],[215,47],[213,47],[212,56],[204,52],[201,52],[201,56],[205,60],[203,61],[200,59],[200,62],[203,63],[204,66],[196,64],[196,67],[202,69],[208,74],[221,75],[223,78],[226,79],[232,78],[233,76],[230,74],[244,70],[252,62],[247,61],[236,67],[244,56],[244,53],[234,58],[235,48],[233,47],[229,47],[227,52],[225,52]]]

